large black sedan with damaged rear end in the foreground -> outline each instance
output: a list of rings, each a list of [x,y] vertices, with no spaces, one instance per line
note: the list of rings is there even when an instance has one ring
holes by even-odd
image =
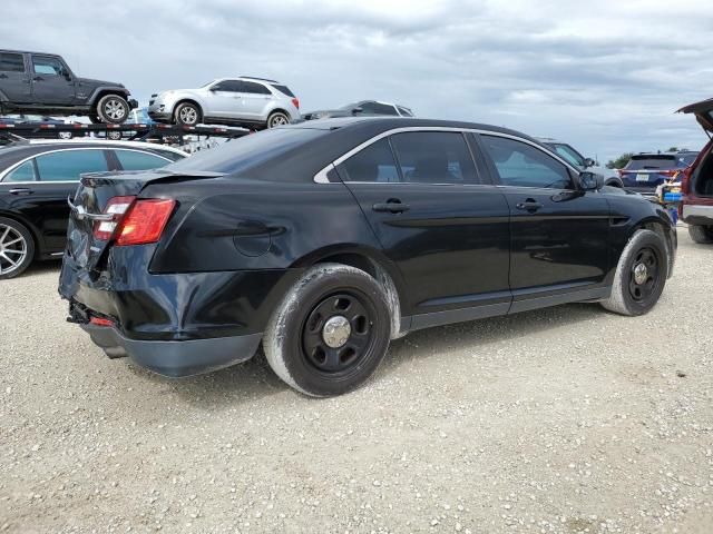
[[[110,357],[167,376],[251,358],[328,396],[419,328],[599,301],[648,312],[676,233],[535,139],[420,119],[329,119],[165,169],[85,176],[60,294]]]

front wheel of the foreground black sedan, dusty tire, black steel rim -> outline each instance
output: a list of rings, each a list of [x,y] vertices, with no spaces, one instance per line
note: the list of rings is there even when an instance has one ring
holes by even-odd
[[[644,315],[658,301],[667,276],[664,239],[655,231],[637,230],[619,257],[612,295],[600,304],[621,315]]]

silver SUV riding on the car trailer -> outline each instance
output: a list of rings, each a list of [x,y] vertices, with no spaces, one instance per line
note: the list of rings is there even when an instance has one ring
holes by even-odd
[[[172,89],[152,95],[148,116],[156,122],[184,126],[274,128],[300,118],[300,100],[287,86],[275,80],[221,78],[198,89]]]

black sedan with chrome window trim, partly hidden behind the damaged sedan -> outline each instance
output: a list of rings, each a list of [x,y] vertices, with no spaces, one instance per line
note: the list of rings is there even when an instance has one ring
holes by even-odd
[[[81,172],[146,170],[186,155],[145,142],[29,141],[0,148],[0,280],[61,256]]]

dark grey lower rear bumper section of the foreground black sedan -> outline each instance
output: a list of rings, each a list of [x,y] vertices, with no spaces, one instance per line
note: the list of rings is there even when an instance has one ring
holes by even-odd
[[[137,364],[169,377],[222,369],[253,357],[262,334],[180,342],[140,340],[124,337],[110,326],[80,325],[110,358],[130,357]]]

